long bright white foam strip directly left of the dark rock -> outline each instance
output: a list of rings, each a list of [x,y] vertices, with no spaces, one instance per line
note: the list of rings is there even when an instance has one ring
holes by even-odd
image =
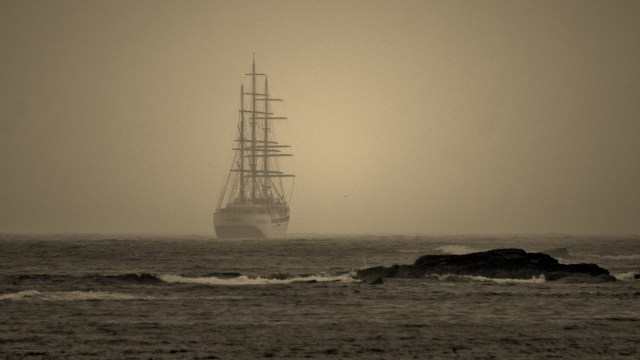
[[[353,282],[353,277],[349,275],[336,275],[336,276],[298,276],[289,279],[269,279],[262,277],[249,277],[246,275],[238,276],[235,278],[221,279],[217,277],[185,277],[180,275],[160,275],[158,278],[168,283],[180,283],[180,284],[200,284],[200,285],[226,285],[226,286],[242,286],[242,285],[274,285],[274,284],[291,284],[295,282]]]

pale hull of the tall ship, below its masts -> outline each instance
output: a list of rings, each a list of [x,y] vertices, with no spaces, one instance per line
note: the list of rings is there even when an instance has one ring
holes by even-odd
[[[289,219],[281,220],[268,214],[225,214],[213,215],[213,227],[219,239],[275,239],[287,233]]]

